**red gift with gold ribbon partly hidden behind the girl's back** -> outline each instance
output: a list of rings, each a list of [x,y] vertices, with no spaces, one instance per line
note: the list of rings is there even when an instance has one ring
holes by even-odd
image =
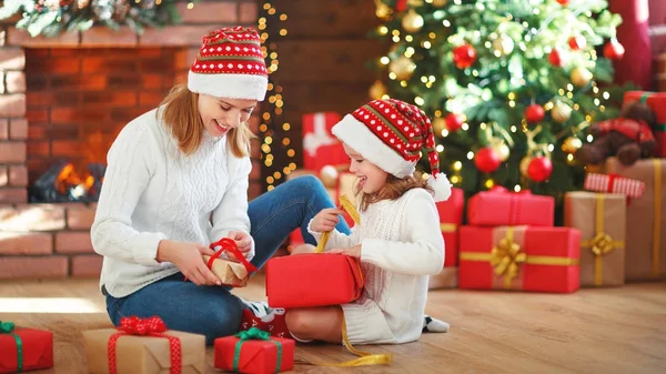
[[[440,228],[446,247],[444,267],[457,265],[458,226],[463,223],[465,193],[462,189],[451,189],[451,198],[436,203],[440,213]]]

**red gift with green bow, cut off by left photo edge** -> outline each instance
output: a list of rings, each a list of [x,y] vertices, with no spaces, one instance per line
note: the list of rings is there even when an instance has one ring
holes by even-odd
[[[53,367],[53,333],[0,321],[0,373]]]

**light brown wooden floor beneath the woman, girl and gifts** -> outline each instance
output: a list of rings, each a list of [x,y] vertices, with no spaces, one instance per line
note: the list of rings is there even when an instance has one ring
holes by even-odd
[[[238,293],[263,299],[262,282],[258,277]],[[51,297],[63,304],[56,306]],[[426,312],[452,330],[417,343],[366,347],[392,353],[391,366],[296,365],[294,372],[666,373],[666,283],[571,295],[435,291]],[[0,320],[54,332],[56,365],[34,373],[85,373],[81,331],[111,326],[94,280],[0,283]],[[353,357],[341,346],[296,348],[297,360]],[[216,372],[212,360],[209,348],[206,373]]]

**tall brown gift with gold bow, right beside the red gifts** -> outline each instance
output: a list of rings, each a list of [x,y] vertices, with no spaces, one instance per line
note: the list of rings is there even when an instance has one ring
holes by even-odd
[[[625,195],[567,192],[564,225],[581,231],[581,286],[625,283]]]

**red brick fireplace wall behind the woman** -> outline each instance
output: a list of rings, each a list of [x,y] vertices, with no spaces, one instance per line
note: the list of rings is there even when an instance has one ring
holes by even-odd
[[[183,24],[141,37],[95,28],[30,38],[0,24],[0,279],[99,274],[89,234],[95,205],[29,204],[27,188],[53,159],[80,158],[82,145],[102,144],[87,156],[105,155],[113,134],[184,77],[203,34],[258,19],[254,0],[200,1],[191,10],[183,2],[180,11]],[[255,133],[258,125],[255,115]],[[252,155],[250,199],[261,190],[259,142]]]

